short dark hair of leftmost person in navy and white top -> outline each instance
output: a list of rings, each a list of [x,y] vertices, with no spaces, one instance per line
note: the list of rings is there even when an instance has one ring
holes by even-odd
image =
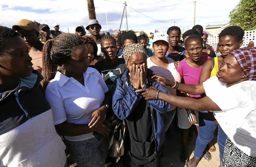
[[[0,26],[0,52],[11,37],[19,36],[19,33],[8,27]]]

